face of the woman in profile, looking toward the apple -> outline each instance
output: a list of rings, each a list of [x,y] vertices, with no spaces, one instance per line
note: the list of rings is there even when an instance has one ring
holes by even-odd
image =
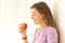
[[[40,14],[35,8],[31,9],[31,18],[35,24],[40,24],[43,19],[43,14]]]

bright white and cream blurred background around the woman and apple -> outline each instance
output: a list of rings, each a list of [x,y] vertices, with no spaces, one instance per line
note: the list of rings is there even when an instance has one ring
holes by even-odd
[[[0,0],[0,43],[23,43],[18,25],[27,23],[28,42],[34,39],[36,26],[30,18],[30,6],[44,1],[58,27],[61,43],[65,43],[65,0]]]

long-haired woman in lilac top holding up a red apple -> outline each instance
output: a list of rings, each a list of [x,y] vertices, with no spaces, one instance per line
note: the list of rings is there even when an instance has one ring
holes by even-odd
[[[31,18],[40,28],[36,29],[32,43],[58,43],[58,31],[53,20],[52,13],[44,2],[35,3],[31,8]],[[20,32],[23,34],[24,43],[28,43],[26,30]]]

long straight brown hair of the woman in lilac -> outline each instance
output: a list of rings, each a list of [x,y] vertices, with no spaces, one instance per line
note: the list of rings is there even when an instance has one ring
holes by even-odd
[[[32,9],[32,8],[35,8],[39,13],[44,14],[46,19],[47,19],[47,25],[52,26],[57,30],[57,26],[53,20],[50,8],[48,6],[48,4],[46,2],[35,3],[30,9]],[[57,32],[58,32],[58,30],[57,30]]]

